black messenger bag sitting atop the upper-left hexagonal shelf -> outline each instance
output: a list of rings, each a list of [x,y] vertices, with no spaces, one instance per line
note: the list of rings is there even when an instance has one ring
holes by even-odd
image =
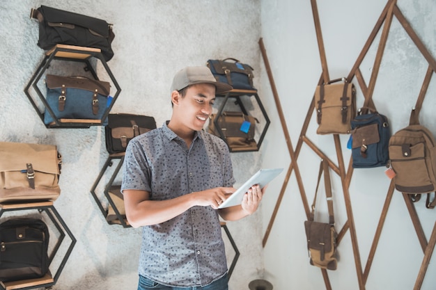
[[[101,49],[105,61],[114,56],[111,48],[114,33],[106,21],[78,13],[40,6],[31,10],[31,18],[39,22],[38,47],[77,45]]]

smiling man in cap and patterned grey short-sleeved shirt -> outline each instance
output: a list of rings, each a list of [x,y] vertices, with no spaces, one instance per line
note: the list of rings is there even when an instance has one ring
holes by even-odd
[[[208,67],[185,67],[171,85],[171,120],[127,146],[125,211],[143,227],[138,290],[228,289],[219,216],[253,214],[265,191],[253,186],[242,204],[217,209],[235,191],[233,168],[226,143],[202,129],[228,90]]]

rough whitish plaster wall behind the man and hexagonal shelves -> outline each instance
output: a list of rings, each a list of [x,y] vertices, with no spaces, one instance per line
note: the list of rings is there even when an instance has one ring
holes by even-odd
[[[171,117],[169,86],[182,67],[233,57],[259,72],[260,1],[0,1],[0,140],[57,145],[63,156],[62,192],[54,206],[77,243],[53,289],[136,289],[141,229],[108,225],[90,194],[108,156],[104,127],[47,129],[24,94],[44,56],[37,46],[38,22],[29,18],[40,5],[114,24],[115,56],[108,65],[122,91],[111,113],[150,115],[159,127]],[[96,67],[100,79],[109,81],[102,66]],[[47,72],[84,73],[80,65],[61,61]],[[235,186],[260,167],[259,152],[235,153],[232,159]],[[98,192],[108,179],[103,177]],[[228,223],[241,253],[230,289],[247,289],[263,275],[259,215]],[[224,240],[230,265],[234,252]]]

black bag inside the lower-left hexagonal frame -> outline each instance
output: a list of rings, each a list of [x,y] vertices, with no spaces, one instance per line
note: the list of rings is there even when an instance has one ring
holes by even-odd
[[[38,218],[13,218],[0,224],[0,280],[44,276],[49,267],[49,231]]]

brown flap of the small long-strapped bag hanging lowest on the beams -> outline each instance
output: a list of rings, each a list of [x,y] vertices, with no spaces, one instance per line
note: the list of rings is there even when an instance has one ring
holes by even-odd
[[[314,250],[324,249],[329,252],[332,249],[332,225],[319,223],[311,220],[304,221],[306,238],[309,248]]]

